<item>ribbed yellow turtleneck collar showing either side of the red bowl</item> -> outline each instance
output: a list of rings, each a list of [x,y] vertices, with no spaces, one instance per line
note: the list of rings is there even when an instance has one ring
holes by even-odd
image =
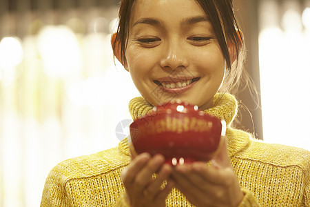
[[[238,102],[233,95],[228,93],[217,93],[214,95],[214,106],[205,110],[204,112],[209,115],[214,115],[219,119],[223,119],[227,124],[227,150],[228,155],[235,155],[236,152],[245,148],[249,144],[249,135],[240,136],[240,139],[234,136],[234,130],[231,129],[231,122],[234,120],[234,117],[237,114]],[[143,97],[136,97],[132,99],[129,103],[130,114],[132,119],[136,120],[138,117],[147,115],[153,110],[153,106],[149,104]],[[239,131],[241,132],[241,131]],[[245,132],[242,132],[242,134]],[[122,152],[129,155],[127,139],[124,139],[119,144],[119,148]]]

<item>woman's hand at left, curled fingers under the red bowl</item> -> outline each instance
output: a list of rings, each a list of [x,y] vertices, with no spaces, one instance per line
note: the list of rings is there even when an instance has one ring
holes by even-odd
[[[153,175],[157,173],[154,179]],[[165,206],[165,199],[174,187],[168,178],[172,167],[165,164],[163,155],[151,157],[148,153],[136,156],[121,177],[126,189],[125,197],[130,206]],[[167,181],[161,188],[163,181]]]

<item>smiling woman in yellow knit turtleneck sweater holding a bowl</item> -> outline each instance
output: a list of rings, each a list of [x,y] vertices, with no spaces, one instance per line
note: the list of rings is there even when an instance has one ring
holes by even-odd
[[[114,55],[143,97],[130,101],[133,119],[181,99],[225,119],[227,141],[211,165],[172,168],[147,153],[131,160],[126,140],[63,161],[41,206],[310,206],[310,152],[231,128],[237,101],[227,91],[244,52],[231,1],[123,0],[119,17]]]

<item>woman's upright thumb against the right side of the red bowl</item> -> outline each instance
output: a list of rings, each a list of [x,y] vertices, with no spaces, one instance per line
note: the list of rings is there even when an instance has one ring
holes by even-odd
[[[220,145],[218,154],[212,158],[211,162],[216,163],[218,168],[230,167],[230,159],[227,154],[227,139],[225,136],[222,136],[220,139],[222,139],[223,144]]]

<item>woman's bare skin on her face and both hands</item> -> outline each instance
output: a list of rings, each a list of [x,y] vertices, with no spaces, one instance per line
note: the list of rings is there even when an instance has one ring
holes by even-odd
[[[210,108],[225,77],[225,59],[214,30],[192,0],[137,0],[125,57],[125,68],[136,88],[153,106],[165,101],[163,97],[170,97],[188,101],[201,110]],[[196,81],[187,90],[172,94],[156,83],[167,81],[167,77]],[[154,93],[156,90],[161,90],[161,95]],[[220,146],[211,166],[195,162],[172,168],[164,163],[163,155],[143,153],[122,172],[125,197],[131,206],[165,206],[173,187],[196,206],[238,206],[242,201],[226,143]],[[152,178],[154,173],[156,179]],[[165,188],[160,188],[166,180]]]

